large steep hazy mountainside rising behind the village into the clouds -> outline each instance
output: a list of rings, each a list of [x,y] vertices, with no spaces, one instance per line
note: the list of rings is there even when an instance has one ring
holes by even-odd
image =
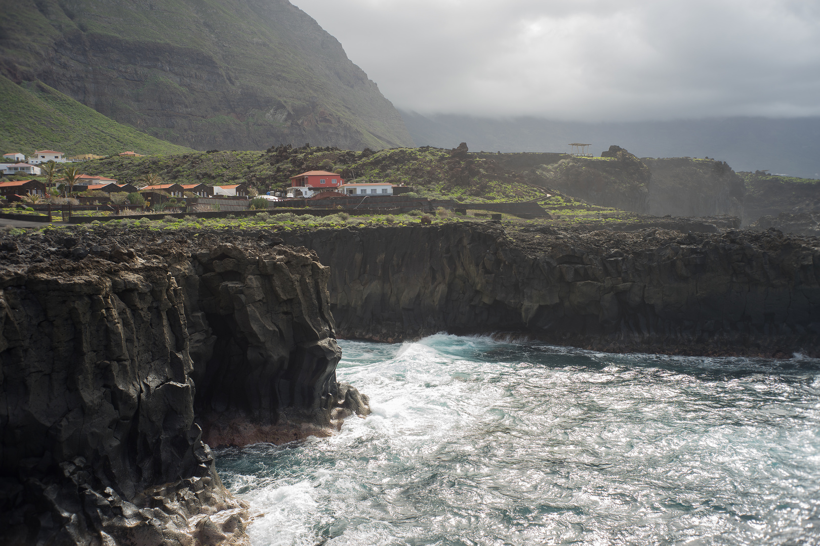
[[[0,72],[198,149],[411,144],[341,44],[287,0],[17,0]]]

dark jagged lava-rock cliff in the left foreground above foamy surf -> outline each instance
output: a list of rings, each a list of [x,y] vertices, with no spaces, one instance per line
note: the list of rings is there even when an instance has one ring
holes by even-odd
[[[203,440],[293,440],[367,413],[335,381],[315,255],[151,239],[0,244],[3,544],[247,544],[248,507]]]

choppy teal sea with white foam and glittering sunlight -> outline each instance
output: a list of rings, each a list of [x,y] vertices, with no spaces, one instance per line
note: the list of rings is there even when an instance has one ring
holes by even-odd
[[[339,345],[369,417],[217,453],[254,546],[820,544],[820,361]]]

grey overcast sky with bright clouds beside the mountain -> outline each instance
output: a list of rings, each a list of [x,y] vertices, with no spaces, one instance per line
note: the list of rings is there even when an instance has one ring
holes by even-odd
[[[820,0],[291,1],[423,114],[820,115]]]

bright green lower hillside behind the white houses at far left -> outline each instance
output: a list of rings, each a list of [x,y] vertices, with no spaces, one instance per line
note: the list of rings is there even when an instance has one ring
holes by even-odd
[[[21,85],[0,76],[0,148],[21,151],[52,149],[69,156],[121,151],[167,155],[193,151],[165,142],[114,120],[44,83]]]

